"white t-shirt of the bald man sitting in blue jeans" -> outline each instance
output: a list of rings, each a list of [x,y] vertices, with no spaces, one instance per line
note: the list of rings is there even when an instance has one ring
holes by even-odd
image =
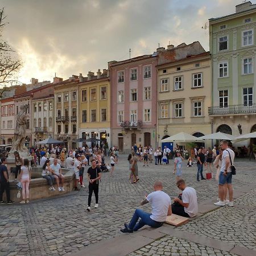
[[[150,218],[154,221],[166,221],[168,208],[171,205],[170,196],[163,191],[154,191],[146,197],[147,201],[151,203],[152,214]]]

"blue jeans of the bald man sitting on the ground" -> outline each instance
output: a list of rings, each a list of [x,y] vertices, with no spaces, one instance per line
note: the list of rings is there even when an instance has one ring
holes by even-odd
[[[142,228],[144,225],[151,226],[152,228],[159,228],[163,225],[163,222],[157,222],[152,220],[150,218],[151,213],[143,212],[141,209],[136,209],[133,217],[131,218],[131,221],[128,225],[128,228],[134,231],[137,231],[138,229]],[[141,218],[141,220],[139,220]],[[137,223],[137,221],[139,222]]]

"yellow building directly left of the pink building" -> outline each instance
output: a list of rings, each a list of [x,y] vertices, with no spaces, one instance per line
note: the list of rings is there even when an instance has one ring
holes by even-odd
[[[96,138],[98,146],[110,144],[110,81],[109,71],[104,69],[97,75],[89,72],[79,76],[80,128],[79,138]],[[85,144],[85,143],[84,143]],[[90,142],[86,142],[88,146]]]

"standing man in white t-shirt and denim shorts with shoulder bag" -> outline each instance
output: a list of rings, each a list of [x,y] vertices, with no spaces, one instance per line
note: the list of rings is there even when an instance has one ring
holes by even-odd
[[[231,162],[234,164],[234,151],[229,148],[228,141],[221,141],[220,147],[222,152],[222,164],[220,169],[220,175],[218,177],[218,193],[220,195],[220,201],[214,203],[218,206],[229,205],[234,206],[233,203],[233,188],[232,188],[232,173],[231,173]],[[231,158],[231,162],[230,162]],[[227,184],[229,191],[229,202],[224,201],[224,185]]]

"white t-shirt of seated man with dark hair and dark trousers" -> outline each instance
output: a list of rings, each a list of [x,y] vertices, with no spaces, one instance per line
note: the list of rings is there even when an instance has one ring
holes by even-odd
[[[186,187],[182,192],[182,201],[188,204],[188,208],[184,207],[184,211],[189,217],[194,217],[198,213],[197,196],[195,188]]]

